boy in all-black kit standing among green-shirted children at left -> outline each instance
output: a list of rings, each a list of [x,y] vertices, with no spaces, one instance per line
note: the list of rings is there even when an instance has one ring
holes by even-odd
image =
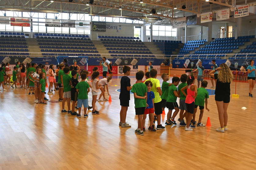
[[[72,76],[71,77],[71,100],[73,101],[71,115],[77,115],[77,113],[75,112],[75,105],[78,99],[78,92],[76,91],[76,85],[79,83],[79,81],[76,78],[76,73],[77,73],[76,70],[71,71],[71,76]]]

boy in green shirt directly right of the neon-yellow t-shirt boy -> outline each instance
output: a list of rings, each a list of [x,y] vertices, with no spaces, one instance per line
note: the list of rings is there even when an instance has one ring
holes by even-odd
[[[164,111],[165,107],[166,107],[166,100],[167,100],[167,96],[168,96],[168,92],[169,92],[169,86],[171,86],[172,83],[167,83],[167,81],[169,80],[169,74],[168,73],[163,73],[161,77],[163,79],[162,95],[161,95],[162,111]]]

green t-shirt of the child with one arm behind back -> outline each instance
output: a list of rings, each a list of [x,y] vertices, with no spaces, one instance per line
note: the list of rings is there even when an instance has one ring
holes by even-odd
[[[136,93],[137,96],[144,97],[147,93],[147,86],[144,83],[136,83],[132,86],[132,93]],[[134,97],[135,108],[147,107],[146,99],[138,99]]]

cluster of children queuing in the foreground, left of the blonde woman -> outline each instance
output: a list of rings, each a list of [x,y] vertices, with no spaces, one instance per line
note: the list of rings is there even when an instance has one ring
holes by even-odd
[[[186,131],[193,130],[191,128],[195,128],[196,124],[198,127],[205,126],[201,121],[204,112],[204,104],[206,105],[206,110],[209,112],[209,109],[207,108],[209,94],[205,89],[208,84],[207,81],[203,80],[201,88],[197,88],[197,86],[194,85],[195,77],[183,74],[181,75],[181,78],[174,76],[172,83],[168,83],[169,74],[163,73],[161,76],[163,79],[161,88],[160,81],[156,79],[157,70],[151,69],[150,72],[145,74],[145,81],[142,81],[144,72],[137,72],[137,81],[131,86],[130,79],[128,78],[130,70],[131,68],[129,66],[123,67],[124,76],[121,78],[119,96],[121,105],[119,126],[131,127],[131,125],[125,122],[126,113],[129,107],[130,90],[134,95],[135,114],[138,115],[138,128],[135,130],[138,135],[144,135],[143,131],[145,131],[145,119],[147,114],[149,115],[150,120],[148,130],[155,132],[156,129],[165,129],[165,127],[161,125],[161,114],[165,108],[169,109],[165,125],[176,125],[174,119],[180,111],[180,118],[178,121],[180,121],[180,126],[186,126]],[[182,83],[179,85],[180,81]],[[177,103],[177,98],[180,98],[180,107]],[[198,122],[196,122],[195,113],[198,106],[200,115]],[[173,110],[175,111],[173,112]],[[154,114],[156,116],[154,116]],[[186,122],[184,117],[186,118]],[[157,120],[156,129],[154,128],[155,120]]]

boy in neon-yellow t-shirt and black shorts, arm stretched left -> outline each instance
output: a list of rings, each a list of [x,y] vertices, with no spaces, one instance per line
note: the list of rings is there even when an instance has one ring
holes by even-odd
[[[154,107],[155,107],[155,114],[157,115],[157,128],[158,130],[160,129],[165,129],[164,126],[161,125],[161,114],[162,114],[162,99],[160,95],[162,95],[162,90],[160,86],[160,81],[157,78],[157,70],[156,69],[151,69],[150,70],[150,78],[147,79],[147,81],[152,82],[152,88],[151,91],[154,92],[155,98],[154,98]],[[144,82],[144,84],[145,84]]]

